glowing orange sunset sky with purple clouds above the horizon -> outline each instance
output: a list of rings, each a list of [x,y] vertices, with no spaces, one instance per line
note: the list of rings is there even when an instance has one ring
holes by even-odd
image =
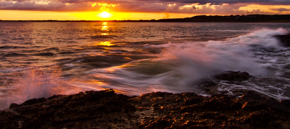
[[[151,20],[290,14],[290,0],[0,0],[0,20]]]

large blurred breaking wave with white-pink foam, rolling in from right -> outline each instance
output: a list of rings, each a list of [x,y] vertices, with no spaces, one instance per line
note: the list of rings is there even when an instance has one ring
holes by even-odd
[[[128,95],[154,91],[202,94],[196,82],[223,71],[245,71],[257,77],[279,78],[287,70],[282,66],[290,62],[287,57],[278,56],[286,48],[272,36],[285,33],[283,29],[263,29],[223,41],[147,44],[141,50],[157,58],[87,71],[88,76],[94,77],[89,84],[79,84],[79,87],[114,88]],[[273,52],[276,54],[269,55]],[[275,58],[280,62],[273,61]],[[284,65],[279,65],[281,62]]]

